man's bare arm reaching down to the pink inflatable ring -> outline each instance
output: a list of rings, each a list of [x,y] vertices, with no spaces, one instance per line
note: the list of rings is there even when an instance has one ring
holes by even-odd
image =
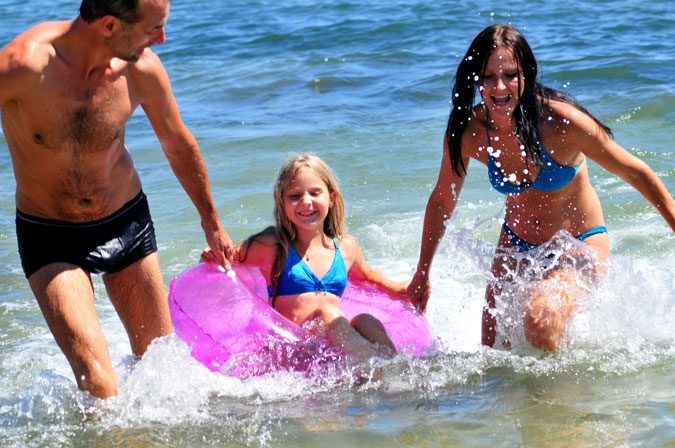
[[[209,247],[218,263],[229,269],[232,239],[218,217],[204,158],[197,140],[180,117],[166,70],[157,55],[148,49],[136,65],[138,67],[134,68],[139,69],[138,82],[143,92],[141,106],[162,144],[171,169],[199,212]]]

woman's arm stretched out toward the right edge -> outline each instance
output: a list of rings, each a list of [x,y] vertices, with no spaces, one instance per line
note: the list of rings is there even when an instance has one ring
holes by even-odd
[[[644,161],[612,140],[588,115],[576,108],[571,111],[563,109],[565,112],[576,147],[635,188],[675,232],[675,201],[656,173]]]

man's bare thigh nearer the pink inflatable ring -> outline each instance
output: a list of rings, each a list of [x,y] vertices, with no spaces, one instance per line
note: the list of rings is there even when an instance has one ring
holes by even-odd
[[[153,339],[173,331],[157,252],[105,274],[103,281],[135,355],[143,355]]]

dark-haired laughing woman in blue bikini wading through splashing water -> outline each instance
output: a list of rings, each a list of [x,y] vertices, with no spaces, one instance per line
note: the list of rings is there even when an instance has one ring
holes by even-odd
[[[675,202],[656,174],[616,144],[610,129],[586,109],[536,77],[532,50],[512,26],[489,26],[472,42],[457,68],[440,174],[427,204],[417,272],[408,289],[412,302],[424,312],[431,262],[469,160],[487,165],[490,183],[506,195],[505,222],[483,310],[482,340],[490,346],[496,338],[491,311],[495,297],[514,273],[523,274],[516,270],[518,252],[533,250],[566,230],[585,243],[581,246],[594,253],[594,259],[609,256],[607,229],[586,157],[632,185],[675,230]],[[482,101],[474,106],[476,89]],[[531,291],[523,325],[533,346],[559,347],[576,309],[574,279],[573,270],[558,263]]]

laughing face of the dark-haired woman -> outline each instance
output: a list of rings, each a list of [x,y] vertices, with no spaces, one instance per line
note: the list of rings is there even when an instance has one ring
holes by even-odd
[[[497,48],[490,55],[483,77],[478,82],[480,95],[490,114],[510,117],[518,105],[522,86],[523,77],[519,74],[513,50]]]

